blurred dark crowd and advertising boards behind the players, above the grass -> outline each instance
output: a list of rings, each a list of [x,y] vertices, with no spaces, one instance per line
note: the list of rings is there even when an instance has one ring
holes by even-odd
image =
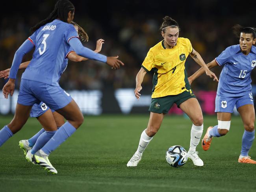
[[[135,76],[141,67],[150,47],[161,41],[158,30],[162,18],[168,15],[180,24],[180,37],[190,39],[206,63],[212,61],[227,46],[238,44],[232,33],[234,24],[254,26],[255,2],[247,1],[78,1],[74,21],[80,24],[89,35],[85,46],[95,49],[97,39],[105,39],[102,54],[119,55],[125,63],[120,70],[111,70],[104,63],[69,61],[67,70],[60,81],[78,102],[84,114],[102,113],[147,113],[152,89],[152,73],[143,81],[142,97],[135,100]],[[55,1],[4,2],[0,19],[0,70],[11,66],[13,55],[20,44],[31,34],[30,27],[46,18],[54,7]],[[32,58],[32,52],[24,61]],[[189,57],[186,61],[188,76],[199,66]],[[221,67],[213,72],[219,77]],[[19,71],[17,86],[19,89]],[[256,72],[252,72],[253,94],[256,95]],[[3,87],[3,79],[0,86]],[[202,110],[214,114],[214,99],[217,83],[206,75],[192,84]],[[254,97],[255,98],[255,97]],[[0,114],[13,113],[17,92],[13,98],[4,100],[0,96]],[[182,114],[175,106],[170,113]]]

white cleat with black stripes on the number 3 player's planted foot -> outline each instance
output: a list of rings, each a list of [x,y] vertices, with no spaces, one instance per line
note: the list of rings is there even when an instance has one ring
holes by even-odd
[[[32,162],[42,166],[48,173],[58,174],[57,170],[50,163],[48,155],[46,155],[42,150],[37,151],[35,155],[33,155]]]

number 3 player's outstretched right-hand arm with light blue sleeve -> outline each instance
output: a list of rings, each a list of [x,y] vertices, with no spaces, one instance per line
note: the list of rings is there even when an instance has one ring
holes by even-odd
[[[77,38],[72,38],[69,40],[70,46],[74,49],[76,54],[86,57],[88,59],[94,59],[97,61],[102,61],[104,63],[107,63],[109,66],[111,66],[113,69],[119,69],[120,65],[124,65],[122,61],[120,61],[118,56],[116,57],[106,57],[105,55],[98,54],[93,52],[92,50],[84,47],[82,43]]]

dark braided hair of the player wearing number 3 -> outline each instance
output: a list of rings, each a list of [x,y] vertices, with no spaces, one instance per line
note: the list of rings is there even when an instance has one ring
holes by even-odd
[[[63,22],[67,22],[69,11],[71,11],[72,14],[74,13],[74,5],[69,0],[58,0],[52,13],[50,13],[50,15],[46,19],[40,21],[35,26],[33,26],[30,31],[33,33],[41,26],[44,26],[46,23],[52,22],[56,18],[59,18]]]

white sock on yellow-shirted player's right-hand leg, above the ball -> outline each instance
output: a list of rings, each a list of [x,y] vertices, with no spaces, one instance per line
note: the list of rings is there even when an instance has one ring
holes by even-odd
[[[195,126],[194,124],[191,127],[191,133],[190,133],[190,148],[189,151],[195,151],[197,145],[200,142],[202,133],[203,133],[203,127],[204,124],[202,124],[201,126]]]

